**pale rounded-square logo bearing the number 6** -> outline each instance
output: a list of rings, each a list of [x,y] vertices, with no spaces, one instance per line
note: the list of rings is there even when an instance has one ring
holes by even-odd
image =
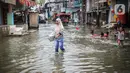
[[[124,4],[116,4],[115,5],[115,14],[124,15],[125,14],[125,5]]]

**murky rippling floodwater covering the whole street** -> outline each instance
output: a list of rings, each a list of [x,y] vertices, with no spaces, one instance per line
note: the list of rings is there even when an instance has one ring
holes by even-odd
[[[54,24],[22,37],[0,39],[0,73],[130,73],[130,46],[93,39],[89,30],[65,27],[66,51],[55,54],[48,40]]]

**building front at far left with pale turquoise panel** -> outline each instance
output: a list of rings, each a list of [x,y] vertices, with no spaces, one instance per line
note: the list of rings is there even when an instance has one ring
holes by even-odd
[[[14,24],[13,5],[16,5],[16,0],[0,1],[0,25]]]

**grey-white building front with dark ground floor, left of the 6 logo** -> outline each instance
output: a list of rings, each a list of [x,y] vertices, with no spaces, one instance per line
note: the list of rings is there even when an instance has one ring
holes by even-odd
[[[102,22],[108,23],[108,14],[109,7],[106,0],[86,1],[86,23],[97,25],[102,24]]]

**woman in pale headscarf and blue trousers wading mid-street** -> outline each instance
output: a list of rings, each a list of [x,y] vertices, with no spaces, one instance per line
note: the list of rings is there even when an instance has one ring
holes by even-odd
[[[55,44],[55,52],[59,52],[59,48],[64,52],[65,49],[64,49],[64,39],[63,39],[63,30],[64,30],[64,27],[63,27],[63,24],[62,24],[62,21],[60,18],[57,18],[56,19],[56,27],[55,27],[55,41],[56,41],[56,44]]]

